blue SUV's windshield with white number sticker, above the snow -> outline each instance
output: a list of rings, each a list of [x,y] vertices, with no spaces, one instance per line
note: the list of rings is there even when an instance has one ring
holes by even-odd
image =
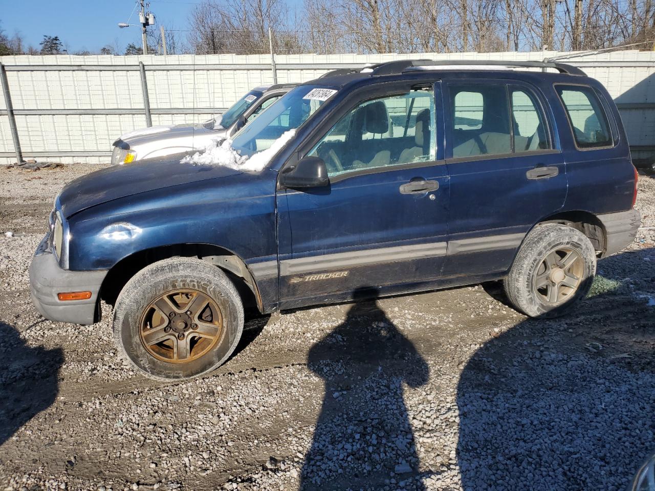
[[[240,155],[251,156],[266,150],[283,133],[298,128],[321,107],[336,90],[301,85],[288,92],[246,124],[234,137],[232,147]]]

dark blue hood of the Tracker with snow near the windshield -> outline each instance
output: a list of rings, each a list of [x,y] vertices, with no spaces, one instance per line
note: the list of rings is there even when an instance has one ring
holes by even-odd
[[[113,166],[75,179],[64,187],[58,201],[68,218],[83,209],[140,192],[215,179],[242,171],[223,166],[181,164],[183,154],[151,158],[128,166]]]

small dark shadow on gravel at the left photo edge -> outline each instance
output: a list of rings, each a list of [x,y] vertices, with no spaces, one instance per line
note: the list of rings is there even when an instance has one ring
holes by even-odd
[[[59,391],[62,350],[31,348],[11,325],[0,322],[0,445],[33,416],[50,407]]]

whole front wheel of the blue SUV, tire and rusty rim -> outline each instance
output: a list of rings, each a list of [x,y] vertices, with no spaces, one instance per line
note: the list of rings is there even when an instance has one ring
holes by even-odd
[[[113,329],[124,355],[158,380],[208,373],[236,348],[244,311],[231,280],[216,266],[190,258],[143,268],[122,289]]]

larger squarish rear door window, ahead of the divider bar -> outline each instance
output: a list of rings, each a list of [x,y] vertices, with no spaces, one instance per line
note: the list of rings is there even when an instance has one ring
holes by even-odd
[[[512,153],[504,84],[451,84],[453,157]]]

